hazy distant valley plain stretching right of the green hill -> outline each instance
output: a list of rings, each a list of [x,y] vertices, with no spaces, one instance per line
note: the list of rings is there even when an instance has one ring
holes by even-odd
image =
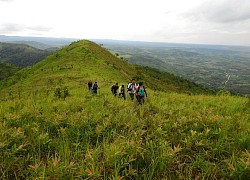
[[[97,41],[120,57],[212,89],[250,95],[250,47]]]

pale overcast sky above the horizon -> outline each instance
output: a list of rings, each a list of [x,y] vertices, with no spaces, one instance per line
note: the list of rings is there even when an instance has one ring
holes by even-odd
[[[250,45],[250,0],[0,0],[0,35]]]

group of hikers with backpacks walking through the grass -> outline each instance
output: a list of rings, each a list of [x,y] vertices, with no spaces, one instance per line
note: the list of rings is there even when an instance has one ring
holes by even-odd
[[[93,84],[90,80],[88,82],[88,88],[90,91],[97,94],[97,82]],[[119,86],[118,83],[115,83],[110,87],[110,90],[115,97],[118,95],[118,97],[124,98],[124,100],[126,100],[126,89],[124,84]],[[139,82],[139,84],[136,84],[135,79],[132,79],[132,81],[127,84],[127,92],[132,101],[134,100],[134,98],[137,99],[139,105],[142,105],[144,103],[144,97],[147,97],[147,91],[145,86],[143,85],[143,82]]]

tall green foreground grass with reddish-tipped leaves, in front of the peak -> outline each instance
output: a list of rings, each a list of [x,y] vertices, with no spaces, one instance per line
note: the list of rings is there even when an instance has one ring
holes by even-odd
[[[69,93],[2,96],[1,179],[249,178],[246,98]]]

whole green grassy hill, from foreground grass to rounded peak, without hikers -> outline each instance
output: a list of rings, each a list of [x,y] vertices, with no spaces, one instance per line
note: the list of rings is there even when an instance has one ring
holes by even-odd
[[[141,107],[110,93],[132,77]],[[248,98],[79,41],[2,81],[0,179],[249,179],[249,114]]]

